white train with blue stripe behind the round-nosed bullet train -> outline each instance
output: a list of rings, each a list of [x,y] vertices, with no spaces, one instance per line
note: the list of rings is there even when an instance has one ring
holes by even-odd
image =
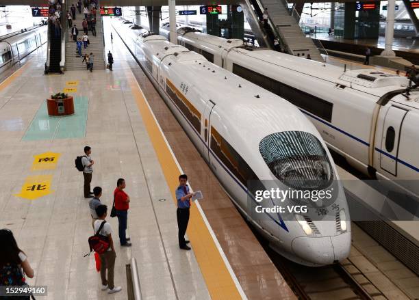
[[[183,27],[179,44],[290,101],[327,146],[384,187],[419,195],[419,90],[406,77],[372,68],[344,70],[277,51],[246,49]]]

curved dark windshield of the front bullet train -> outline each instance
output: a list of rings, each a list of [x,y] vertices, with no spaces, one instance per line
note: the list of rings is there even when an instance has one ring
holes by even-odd
[[[333,169],[327,152],[311,133],[273,133],[262,139],[259,151],[270,172],[288,187],[324,189],[331,185]]]

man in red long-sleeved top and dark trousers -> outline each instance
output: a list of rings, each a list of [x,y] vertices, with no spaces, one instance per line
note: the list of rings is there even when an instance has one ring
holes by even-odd
[[[114,191],[115,198],[115,209],[116,217],[118,217],[118,233],[119,233],[119,242],[121,246],[130,247],[131,243],[128,243],[129,238],[127,238],[127,220],[128,220],[128,209],[129,209],[129,195],[123,191],[125,189],[125,180],[119,178],[116,181],[116,189]]]

